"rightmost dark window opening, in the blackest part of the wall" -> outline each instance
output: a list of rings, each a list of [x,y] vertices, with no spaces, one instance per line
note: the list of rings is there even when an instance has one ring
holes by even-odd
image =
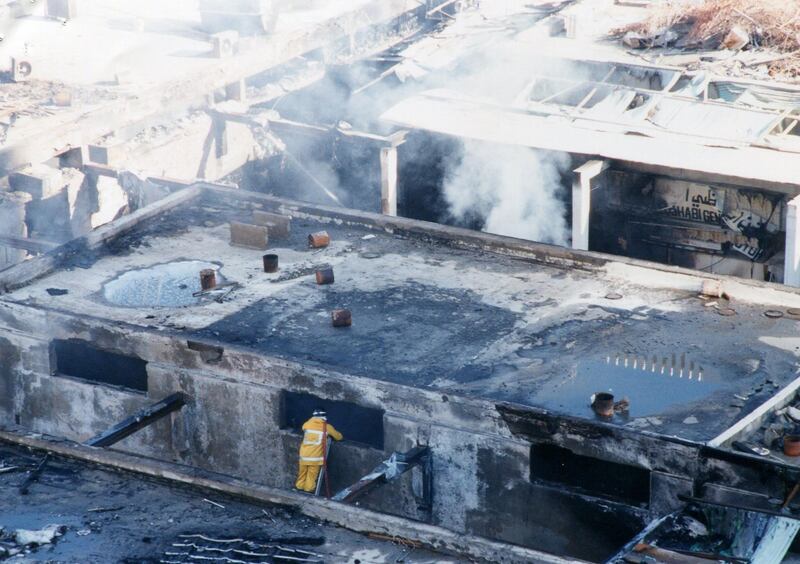
[[[531,481],[578,488],[587,495],[646,505],[650,471],[575,454],[556,445],[531,446]]]

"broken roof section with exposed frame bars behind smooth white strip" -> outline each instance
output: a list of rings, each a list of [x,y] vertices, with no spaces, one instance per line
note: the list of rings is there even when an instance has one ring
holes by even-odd
[[[800,90],[626,63],[543,59],[541,68],[515,107],[598,129],[800,148],[800,131],[791,125],[800,115]]]

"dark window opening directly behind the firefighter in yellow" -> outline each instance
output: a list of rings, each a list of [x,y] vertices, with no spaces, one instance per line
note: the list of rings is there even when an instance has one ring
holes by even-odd
[[[328,422],[344,435],[345,441],[383,450],[383,410],[346,401],[284,391],[281,393],[281,429],[301,431],[316,407],[327,411]]]

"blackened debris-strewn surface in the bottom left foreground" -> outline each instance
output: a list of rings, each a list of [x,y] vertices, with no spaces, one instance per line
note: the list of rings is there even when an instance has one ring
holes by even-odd
[[[0,443],[0,560],[140,564],[200,561],[190,558],[196,556],[293,561],[272,558],[277,555],[326,563],[460,561],[325,525],[286,508],[253,505],[64,458],[51,458],[30,493],[20,495],[23,470],[41,457],[40,452]],[[11,467],[18,470],[2,471]],[[19,536],[19,531],[29,533]],[[17,542],[34,538],[52,540],[41,545]],[[238,542],[220,542],[232,540]],[[9,556],[4,550],[21,552]]]

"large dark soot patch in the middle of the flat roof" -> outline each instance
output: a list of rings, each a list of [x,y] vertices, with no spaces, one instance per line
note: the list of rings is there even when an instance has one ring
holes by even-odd
[[[270,354],[347,367],[359,375],[429,385],[485,377],[469,359],[514,328],[517,316],[468,291],[408,284],[374,292],[320,289],[321,299],[295,307],[289,298],[258,302],[201,334]],[[356,312],[353,326],[334,328],[329,312]],[[408,334],[418,335],[413,344]],[[442,354],[448,351],[448,354]]]

